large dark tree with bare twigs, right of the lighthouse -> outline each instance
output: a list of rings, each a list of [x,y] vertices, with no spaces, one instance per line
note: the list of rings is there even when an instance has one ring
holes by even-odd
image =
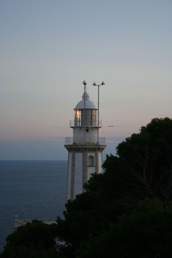
[[[169,205],[172,197],[172,119],[154,118],[140,133],[132,134],[117,147],[118,157],[107,156],[107,173],[121,173],[128,191],[120,198],[125,206],[136,206],[146,196],[159,197]],[[121,178],[122,179],[122,178]],[[120,179],[120,180],[121,180]],[[126,180],[125,180],[126,179]]]

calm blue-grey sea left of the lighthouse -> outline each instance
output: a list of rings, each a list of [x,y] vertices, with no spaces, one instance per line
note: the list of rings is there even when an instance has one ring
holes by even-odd
[[[63,217],[67,161],[0,161],[0,252],[19,219]]]

